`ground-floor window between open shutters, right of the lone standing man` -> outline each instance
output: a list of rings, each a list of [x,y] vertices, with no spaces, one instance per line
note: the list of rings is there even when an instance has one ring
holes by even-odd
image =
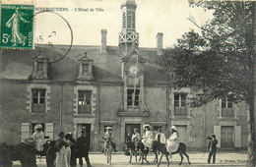
[[[222,126],[222,147],[233,147],[233,127]]]

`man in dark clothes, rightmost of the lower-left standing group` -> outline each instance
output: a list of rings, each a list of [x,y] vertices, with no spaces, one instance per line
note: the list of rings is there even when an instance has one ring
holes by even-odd
[[[77,139],[77,146],[78,146],[78,157],[79,157],[79,164],[83,166],[83,157],[85,157],[87,166],[93,167],[90,163],[89,159],[89,138],[86,136],[86,128],[83,128],[81,132],[81,136]]]

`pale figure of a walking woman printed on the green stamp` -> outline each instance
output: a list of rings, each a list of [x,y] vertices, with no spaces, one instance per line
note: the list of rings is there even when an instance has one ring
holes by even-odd
[[[27,37],[20,31],[20,22],[24,22],[26,24],[30,23],[23,18],[24,13],[20,13],[19,8],[16,8],[15,13],[12,18],[6,23],[7,28],[12,28],[12,39],[11,42],[14,43],[13,46],[17,46],[18,44],[23,44],[25,46],[25,42]]]

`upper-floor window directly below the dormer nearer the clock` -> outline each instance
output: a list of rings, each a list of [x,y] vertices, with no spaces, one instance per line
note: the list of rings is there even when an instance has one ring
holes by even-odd
[[[92,111],[91,107],[91,97],[92,91],[79,91],[78,92],[78,112],[79,113],[90,113]]]

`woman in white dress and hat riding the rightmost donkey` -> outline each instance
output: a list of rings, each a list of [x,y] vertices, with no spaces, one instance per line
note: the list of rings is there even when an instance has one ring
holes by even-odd
[[[167,139],[167,151],[171,155],[171,152],[175,152],[178,149],[179,141],[178,141],[178,132],[175,126],[171,126],[171,135],[169,139]]]

